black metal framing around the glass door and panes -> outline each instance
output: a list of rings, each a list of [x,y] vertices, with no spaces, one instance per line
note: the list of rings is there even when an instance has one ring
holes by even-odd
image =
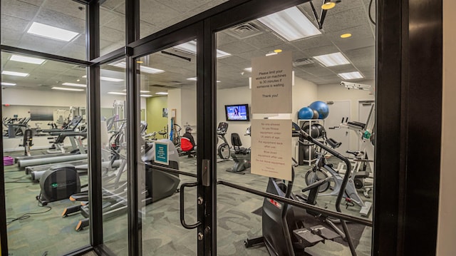
[[[139,89],[135,77],[135,58],[160,51],[189,39],[197,39],[197,118],[198,170],[202,160],[210,161],[210,170],[216,169],[217,118],[215,109],[216,58],[215,32],[234,24],[279,11],[305,1],[286,0],[232,0],[202,14],[139,39],[139,0],[125,1],[125,47],[99,56],[99,4],[98,0],[78,0],[87,6],[86,34],[87,59],[83,61],[38,51],[1,45],[1,51],[88,67],[88,141],[90,168],[101,165],[100,150],[100,65],[115,58],[126,58],[128,91],[128,159],[129,169],[137,167]],[[437,243],[437,217],[440,184],[440,134],[442,120],[442,0],[395,1],[377,0],[376,47],[376,148],[375,148],[375,199],[373,212],[373,255],[434,255]],[[418,26],[425,23],[426,26]],[[413,33],[410,28],[415,28]],[[417,29],[418,28],[418,29]],[[432,51],[429,51],[432,48]],[[428,86],[432,84],[433,86]],[[1,90],[0,90],[1,96]],[[1,101],[1,97],[0,97]],[[1,103],[1,102],[0,102]],[[430,108],[432,106],[432,108]],[[435,125],[425,130],[418,113],[427,112]],[[0,118],[2,118],[0,114]],[[417,129],[416,127],[420,127]],[[426,138],[426,139],[416,139]],[[0,143],[3,157],[3,143]],[[426,149],[426,150],[423,150]],[[427,159],[437,159],[429,161]],[[432,175],[429,175],[432,173]],[[95,250],[110,255],[103,245],[103,217],[101,207],[100,175],[91,172],[90,182],[90,245],[68,252],[81,255]],[[130,180],[138,180],[135,172]],[[209,184],[202,183],[202,172],[197,175],[197,193],[207,202],[209,215],[198,207],[198,220],[202,223],[197,232],[204,239],[196,240],[198,255],[217,254],[217,184],[231,185],[217,180],[213,172]],[[237,185],[231,185],[236,188]],[[239,187],[239,186],[238,186]],[[138,222],[138,184],[129,183],[129,255],[140,255],[141,227]],[[259,192],[238,188],[247,192]],[[425,195],[425,199],[423,199]],[[425,200],[426,209],[423,207]],[[5,209],[4,168],[0,168],[0,209]],[[426,227],[423,235],[422,228]],[[205,233],[205,227],[211,232]],[[397,237],[397,239],[391,239]],[[6,211],[0,210],[1,253],[8,255]]]

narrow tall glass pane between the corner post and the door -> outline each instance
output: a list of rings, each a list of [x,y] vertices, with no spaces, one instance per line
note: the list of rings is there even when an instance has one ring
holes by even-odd
[[[100,67],[103,241],[128,255],[128,164],[125,68]]]

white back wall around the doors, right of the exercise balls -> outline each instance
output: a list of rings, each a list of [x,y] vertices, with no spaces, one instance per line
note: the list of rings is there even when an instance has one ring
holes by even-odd
[[[375,81],[361,81],[360,83],[375,86]],[[358,120],[358,102],[375,100],[375,96],[370,91],[354,90],[345,88],[340,84],[326,84],[317,86],[318,101],[350,101],[350,120]],[[331,115],[331,113],[329,113]],[[366,122],[361,120],[361,123]],[[335,138],[337,140],[337,138]],[[358,136],[354,132],[350,135],[351,150],[358,150]]]

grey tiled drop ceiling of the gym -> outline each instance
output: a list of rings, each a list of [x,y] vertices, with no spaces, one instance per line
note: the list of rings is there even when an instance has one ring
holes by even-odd
[[[27,2],[33,3],[35,6],[27,4]],[[163,26],[175,24],[212,6],[221,4],[224,0],[141,0],[140,2],[142,10],[140,15],[140,34],[141,37],[144,37],[162,29]],[[43,7],[38,9],[41,4],[43,4]],[[277,48],[282,51],[291,51],[294,61],[341,51],[353,64],[326,68],[314,60],[315,63],[294,67],[297,77],[317,84],[338,83],[341,78],[337,76],[337,73],[356,70],[363,73],[366,78],[373,79],[375,71],[373,68],[375,65],[373,30],[375,30],[375,26],[368,23],[366,4],[368,4],[367,0],[343,0],[334,9],[328,11],[328,16],[323,24],[323,34],[299,41],[284,41],[284,39],[270,31],[269,28],[259,24],[257,20],[250,21],[249,24],[257,26],[259,31],[249,34],[246,39],[237,39],[237,37],[224,31],[218,32],[217,48],[232,53],[232,56],[217,59],[217,79],[222,81],[222,83],[217,84],[217,87],[248,86],[248,78],[252,74],[244,71],[244,68],[251,66],[253,57],[264,56],[265,53]],[[5,9],[5,6],[9,6],[9,9],[12,10]],[[83,59],[85,58],[86,43],[84,36],[85,10],[79,10],[78,6],[81,6],[81,4],[70,0],[2,0],[2,43]],[[312,14],[309,12],[309,3],[302,4],[299,8],[306,10],[306,15],[313,20]],[[316,4],[316,8],[320,9],[320,6]],[[26,34],[25,31],[36,14],[38,14],[36,16],[37,19],[33,21],[58,25],[58,27],[63,29],[77,31],[81,34],[69,43]],[[102,54],[123,47],[125,43],[124,14],[125,0],[103,1],[100,10],[100,48]],[[353,34],[353,36],[350,39],[340,39],[340,34],[346,32]],[[19,39],[24,39],[24,42],[19,44]],[[141,85],[148,86],[156,83],[162,86],[169,86],[169,88],[176,88],[182,85],[195,86],[194,81],[187,81],[186,79],[196,76],[196,56],[182,53],[173,48],[165,51],[192,58],[192,62],[156,53],[148,59],[147,63],[144,63],[144,66],[161,68],[165,70],[165,73],[142,73]],[[5,55],[3,54],[3,56]],[[16,65],[16,68],[27,68],[22,63],[14,64],[4,61],[4,58],[2,59],[3,67]],[[142,58],[142,60],[147,60],[147,58]],[[124,68],[113,66],[106,66],[106,68],[114,73],[123,74],[125,72]],[[81,78],[86,73],[84,69],[80,70],[77,67],[66,66],[53,61],[46,61],[42,66],[31,67],[30,72],[31,76],[28,78],[14,79],[34,88],[36,88],[37,84],[50,83],[54,85],[56,81],[76,81],[78,78],[81,79],[81,83],[86,83],[86,80]],[[242,75],[242,72],[244,72],[244,75]],[[124,82],[122,83],[124,84]],[[112,83],[110,86],[118,85]],[[40,88],[49,87],[40,86]],[[123,87],[125,86],[123,85]],[[160,90],[166,89],[161,88]]]

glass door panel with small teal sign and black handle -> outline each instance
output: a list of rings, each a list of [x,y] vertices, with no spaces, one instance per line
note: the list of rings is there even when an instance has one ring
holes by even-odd
[[[172,54],[169,54],[172,53]],[[142,255],[195,255],[195,230],[180,224],[181,183],[196,178],[160,167],[196,174],[196,55],[167,48],[138,58],[140,127],[138,185]],[[120,64],[121,65],[121,64]],[[191,140],[192,138],[192,140]],[[196,189],[185,190],[185,216],[195,222]]]

